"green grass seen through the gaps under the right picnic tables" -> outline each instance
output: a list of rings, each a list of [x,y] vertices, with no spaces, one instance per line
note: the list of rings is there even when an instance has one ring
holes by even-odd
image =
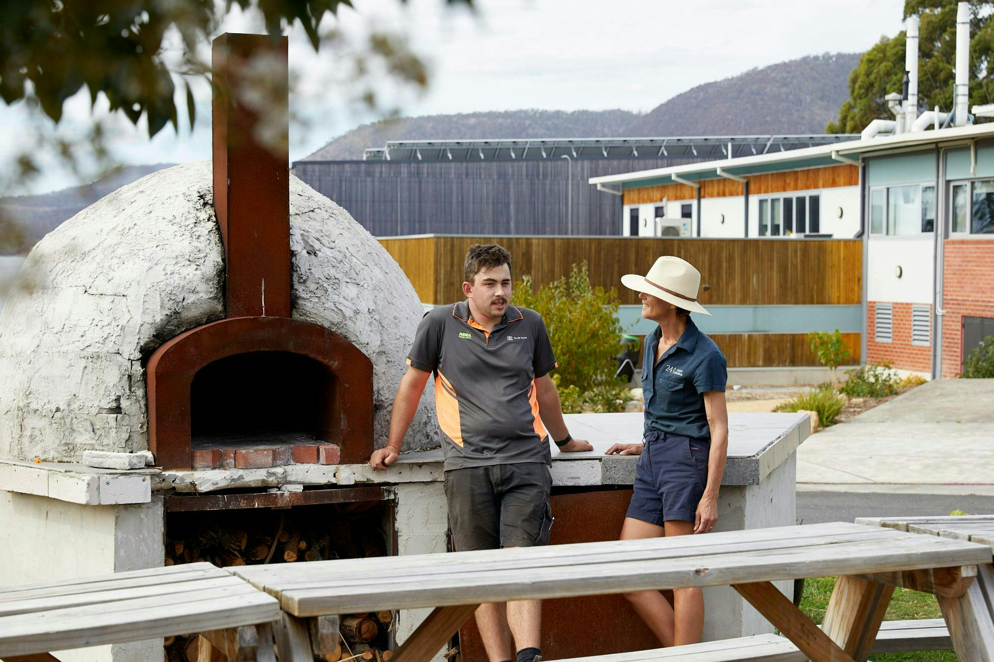
[[[821,624],[828,608],[828,598],[835,586],[834,577],[819,577],[804,582],[804,596],[801,598],[801,611],[811,620]],[[887,608],[884,620],[916,620],[919,618],[941,618],[938,602],[930,593],[898,588],[894,591],[891,605]],[[920,651],[915,653],[879,653],[871,657],[873,662],[955,662],[956,654],[951,650]]]

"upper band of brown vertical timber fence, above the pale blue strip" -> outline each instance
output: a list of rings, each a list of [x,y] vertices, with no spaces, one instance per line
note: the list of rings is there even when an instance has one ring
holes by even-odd
[[[700,269],[705,306],[862,302],[863,245],[858,240],[431,236],[380,242],[408,274],[421,302],[435,305],[462,300],[466,250],[489,243],[511,251],[516,281],[531,274],[536,287],[585,261],[590,282],[616,288],[622,304],[639,300],[621,287],[621,276],[646,272],[659,255],[683,257]]]

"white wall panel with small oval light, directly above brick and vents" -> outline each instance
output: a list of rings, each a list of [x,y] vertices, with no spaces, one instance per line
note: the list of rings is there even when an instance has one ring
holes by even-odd
[[[931,303],[935,264],[931,234],[871,236],[867,252],[867,300]],[[896,267],[901,266],[899,278]]]

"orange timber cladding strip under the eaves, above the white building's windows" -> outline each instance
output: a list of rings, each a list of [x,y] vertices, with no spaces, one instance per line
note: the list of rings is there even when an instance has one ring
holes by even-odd
[[[772,172],[765,175],[746,176],[749,195],[781,193],[784,191],[812,191],[831,189],[839,186],[859,186],[860,169],[853,165],[837,165],[825,168],[806,168],[788,172]],[[743,185],[731,179],[701,180],[702,198],[726,198],[743,195]],[[625,205],[644,205],[670,200],[690,200],[697,197],[693,188],[683,184],[663,184],[625,189],[622,200]]]

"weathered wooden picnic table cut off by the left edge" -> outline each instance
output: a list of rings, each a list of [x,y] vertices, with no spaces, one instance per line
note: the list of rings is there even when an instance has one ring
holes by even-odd
[[[274,662],[279,614],[271,596],[208,563],[4,586],[0,660],[57,662],[49,651],[201,632]]]

